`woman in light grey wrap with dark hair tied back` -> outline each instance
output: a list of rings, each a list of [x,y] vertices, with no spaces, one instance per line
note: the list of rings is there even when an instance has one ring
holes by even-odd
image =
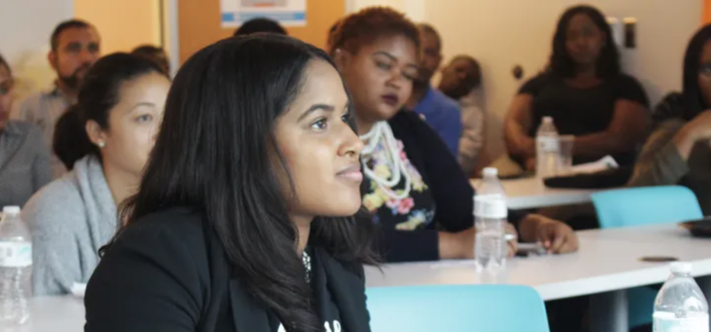
[[[99,248],[119,227],[117,205],[138,186],[169,86],[157,65],[125,53],[101,58],[87,73],[77,107],[56,129],[55,151],[73,170],[22,212],[33,237],[36,295],[65,294],[89,280]]]

